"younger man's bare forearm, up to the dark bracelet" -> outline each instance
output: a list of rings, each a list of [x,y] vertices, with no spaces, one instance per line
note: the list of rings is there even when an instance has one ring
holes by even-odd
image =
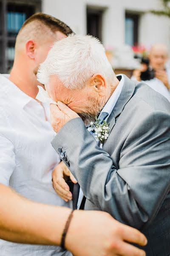
[[[70,209],[37,204],[0,184],[0,238],[59,245]]]

